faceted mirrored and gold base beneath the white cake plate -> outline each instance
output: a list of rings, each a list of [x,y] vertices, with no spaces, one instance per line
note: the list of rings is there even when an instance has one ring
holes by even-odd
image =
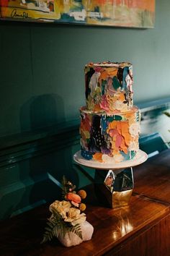
[[[95,193],[105,206],[119,208],[128,205],[133,187],[133,168],[95,171]]]

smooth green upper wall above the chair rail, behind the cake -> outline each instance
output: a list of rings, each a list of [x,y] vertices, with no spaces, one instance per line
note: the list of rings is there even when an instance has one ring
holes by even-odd
[[[132,62],[135,103],[169,96],[169,12],[156,1],[153,29],[0,22],[0,137],[79,118],[89,61]]]

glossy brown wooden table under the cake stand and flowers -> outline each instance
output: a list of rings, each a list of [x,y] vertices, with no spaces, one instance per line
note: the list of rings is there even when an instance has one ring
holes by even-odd
[[[99,205],[93,186],[86,187],[89,242],[63,247],[57,240],[40,244],[48,205],[0,223],[0,255],[29,256],[168,256],[170,255],[170,150],[133,168],[135,189],[128,207]]]

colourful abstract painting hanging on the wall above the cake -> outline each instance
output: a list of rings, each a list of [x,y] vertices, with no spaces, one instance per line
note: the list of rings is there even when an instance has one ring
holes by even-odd
[[[1,20],[153,27],[155,0],[0,0]]]

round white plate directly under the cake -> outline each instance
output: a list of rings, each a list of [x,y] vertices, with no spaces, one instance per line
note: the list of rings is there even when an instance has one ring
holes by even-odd
[[[138,150],[138,152],[135,155],[135,158],[133,158],[132,160],[122,161],[120,163],[99,163],[94,160],[86,160],[85,158],[83,158],[81,156],[81,150],[79,150],[78,152],[76,152],[73,155],[73,160],[76,163],[79,163],[86,167],[102,169],[102,170],[104,170],[104,169],[115,170],[115,169],[120,169],[120,168],[128,168],[128,167],[138,166],[139,164],[144,163],[147,159],[148,159],[148,155],[142,150]]]

